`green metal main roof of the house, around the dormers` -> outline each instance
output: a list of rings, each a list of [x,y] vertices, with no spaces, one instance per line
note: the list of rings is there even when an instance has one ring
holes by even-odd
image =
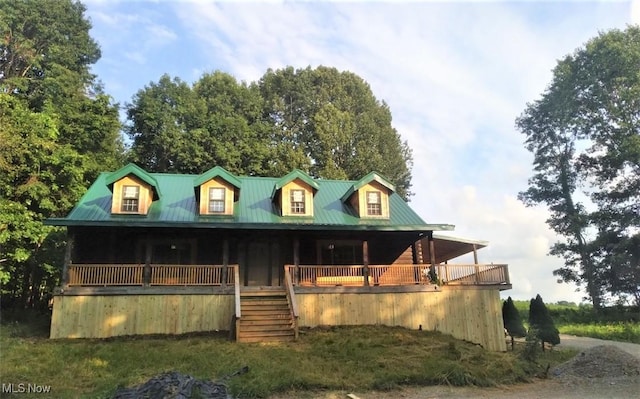
[[[139,226],[195,227],[227,229],[290,230],[372,230],[429,231],[452,230],[448,224],[425,223],[397,194],[389,196],[389,219],[360,218],[342,196],[357,182],[313,180],[317,187],[313,217],[280,216],[272,201],[274,187],[284,181],[272,177],[237,177],[241,186],[233,216],[200,215],[194,181],[203,175],[149,173],[162,190],[160,199],[151,204],[147,215],[112,215],[112,193],[108,187],[113,173],[102,173],[66,218],[49,219],[57,226]],[[287,175],[289,176],[289,175]],[[298,177],[294,174],[294,178]],[[310,179],[310,178],[309,178]]]

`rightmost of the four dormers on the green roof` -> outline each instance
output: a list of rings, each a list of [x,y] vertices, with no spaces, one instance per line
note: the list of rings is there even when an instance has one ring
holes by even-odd
[[[358,180],[342,196],[343,203],[350,205],[363,219],[389,219],[389,196],[395,186],[376,172]]]

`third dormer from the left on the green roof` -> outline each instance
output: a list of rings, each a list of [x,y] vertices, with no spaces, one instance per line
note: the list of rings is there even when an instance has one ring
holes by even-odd
[[[282,216],[313,217],[313,196],[319,188],[308,174],[295,169],[276,182],[271,199]]]

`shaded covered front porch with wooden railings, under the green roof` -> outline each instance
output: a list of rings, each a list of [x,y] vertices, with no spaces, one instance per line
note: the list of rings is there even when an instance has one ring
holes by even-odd
[[[285,271],[300,288],[510,288],[507,265],[478,262],[484,246],[430,231],[191,229],[177,236],[166,229],[75,228],[69,231],[61,289],[283,287]],[[472,254],[473,263],[450,263],[464,254]]]

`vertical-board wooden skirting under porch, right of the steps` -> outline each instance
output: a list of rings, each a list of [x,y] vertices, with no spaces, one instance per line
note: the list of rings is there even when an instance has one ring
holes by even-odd
[[[505,351],[499,291],[296,293],[298,325],[387,325],[435,330]]]

